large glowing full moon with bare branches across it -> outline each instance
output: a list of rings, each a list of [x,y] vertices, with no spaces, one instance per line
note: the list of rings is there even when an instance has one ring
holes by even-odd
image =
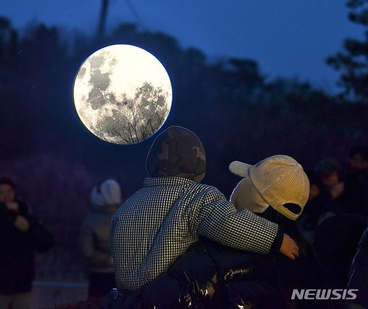
[[[135,144],[163,125],[171,107],[170,78],[161,62],[132,45],[112,45],[89,56],[73,84],[75,111],[93,135]]]

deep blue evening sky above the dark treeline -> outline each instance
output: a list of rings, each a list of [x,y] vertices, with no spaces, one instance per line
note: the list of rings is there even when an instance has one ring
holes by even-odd
[[[336,92],[338,73],[324,59],[345,37],[363,29],[347,19],[346,0],[131,0],[148,30],[176,37],[182,47],[203,50],[209,59],[252,58],[263,74],[298,77]],[[0,15],[23,28],[28,21],[66,29],[96,30],[100,0],[2,0]],[[107,27],[136,21],[123,0],[111,0]]]

